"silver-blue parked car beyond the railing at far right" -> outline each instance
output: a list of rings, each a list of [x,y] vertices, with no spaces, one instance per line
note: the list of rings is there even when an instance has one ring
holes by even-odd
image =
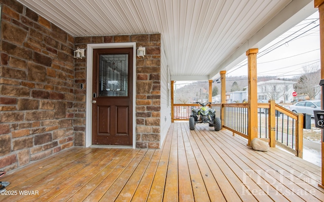
[[[310,114],[311,117],[314,117],[314,110],[321,110],[320,100],[301,101],[289,106],[288,109],[295,113]]]

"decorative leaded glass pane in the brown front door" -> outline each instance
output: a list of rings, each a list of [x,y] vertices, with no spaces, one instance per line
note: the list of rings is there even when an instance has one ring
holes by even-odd
[[[100,55],[99,96],[128,96],[128,54]]]

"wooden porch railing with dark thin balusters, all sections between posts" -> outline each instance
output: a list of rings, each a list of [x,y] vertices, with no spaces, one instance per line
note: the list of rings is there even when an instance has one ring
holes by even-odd
[[[216,117],[222,120],[222,128],[248,138],[248,104],[212,104]],[[189,120],[191,109],[197,104],[174,104],[172,120]],[[223,108],[223,117],[221,109]],[[271,100],[258,103],[258,138],[271,147],[278,145],[294,155],[303,156],[303,114],[295,114]]]

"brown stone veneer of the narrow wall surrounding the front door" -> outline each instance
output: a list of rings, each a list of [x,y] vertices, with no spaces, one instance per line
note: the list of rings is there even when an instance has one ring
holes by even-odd
[[[144,58],[136,57],[136,147],[160,145],[160,34],[75,37],[75,47],[88,43],[136,42],[146,48]],[[75,61],[75,82],[86,83],[86,58]],[[84,92],[86,94],[86,92]],[[135,107],[135,106],[134,106]],[[85,122],[85,119],[83,120]],[[75,133],[75,145],[85,145],[85,133]]]

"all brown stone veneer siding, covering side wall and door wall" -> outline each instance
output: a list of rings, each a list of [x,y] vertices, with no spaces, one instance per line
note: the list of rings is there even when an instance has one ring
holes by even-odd
[[[160,34],[74,38],[15,0],[0,4],[0,170],[85,146],[86,58],[72,56],[88,43],[146,47],[136,59],[136,147],[159,147]]]

